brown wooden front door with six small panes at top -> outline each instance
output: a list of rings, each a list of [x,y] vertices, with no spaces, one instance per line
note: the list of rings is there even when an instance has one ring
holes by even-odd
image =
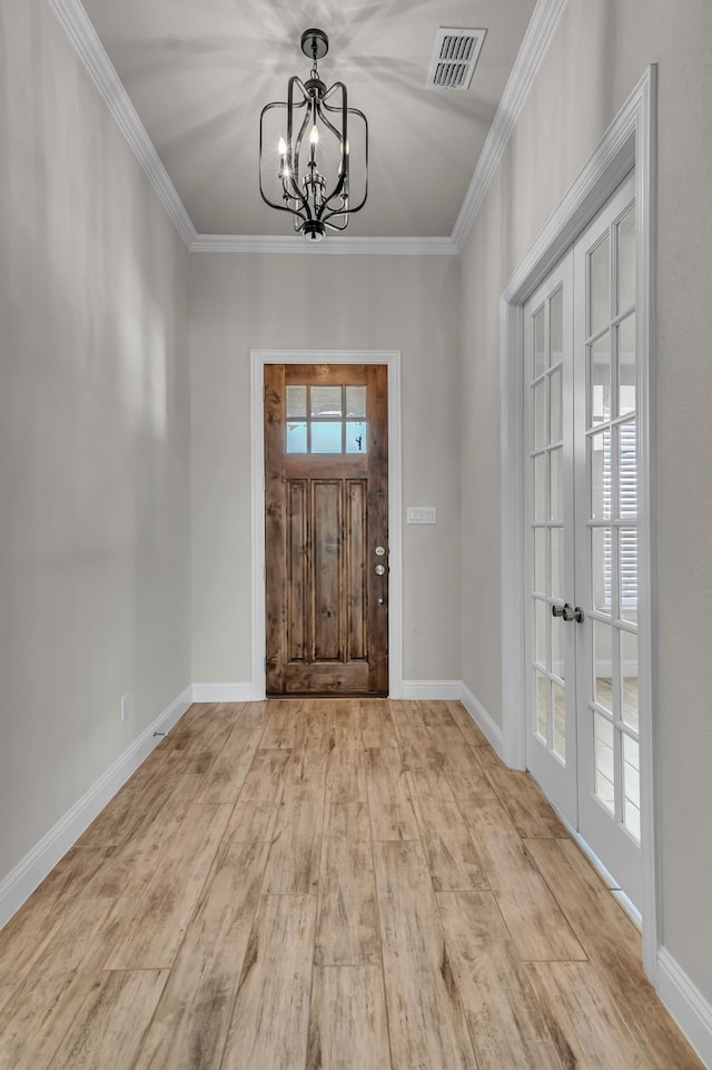
[[[388,691],[384,365],[265,366],[268,695]]]

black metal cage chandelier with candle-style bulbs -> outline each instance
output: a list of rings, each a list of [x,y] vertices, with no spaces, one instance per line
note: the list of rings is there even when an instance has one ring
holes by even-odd
[[[348,107],[343,81],[327,89],[319,78],[317,63],[328,49],[324,30],[305,30],[301,51],[312,59],[309,78],[290,78],[286,102],[266,105],[259,117],[263,200],[270,208],[291,213],[295,230],[312,242],[320,242],[327,227],[345,230],[349,217],[366,204],[368,193],[368,122],[362,111]],[[286,124],[273,130],[277,118],[281,122],[286,118]],[[352,140],[357,138],[364,159],[356,203],[352,195],[349,119]]]

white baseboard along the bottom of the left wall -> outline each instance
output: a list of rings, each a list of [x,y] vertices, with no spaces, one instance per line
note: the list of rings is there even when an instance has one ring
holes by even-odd
[[[75,803],[71,809],[60,817],[22,861],[0,881],[0,927],[42,883],[62,855],[67,854],[82,832],[89,827],[95,817],[158,745],[160,738],[154,733],[169,732],[186,713],[191,700],[192,691],[187,687]]]

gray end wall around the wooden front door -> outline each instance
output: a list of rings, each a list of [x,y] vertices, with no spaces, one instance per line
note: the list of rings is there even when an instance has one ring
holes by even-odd
[[[456,257],[190,258],[192,678],[251,677],[250,349],[400,350],[406,679],[459,678]]]

